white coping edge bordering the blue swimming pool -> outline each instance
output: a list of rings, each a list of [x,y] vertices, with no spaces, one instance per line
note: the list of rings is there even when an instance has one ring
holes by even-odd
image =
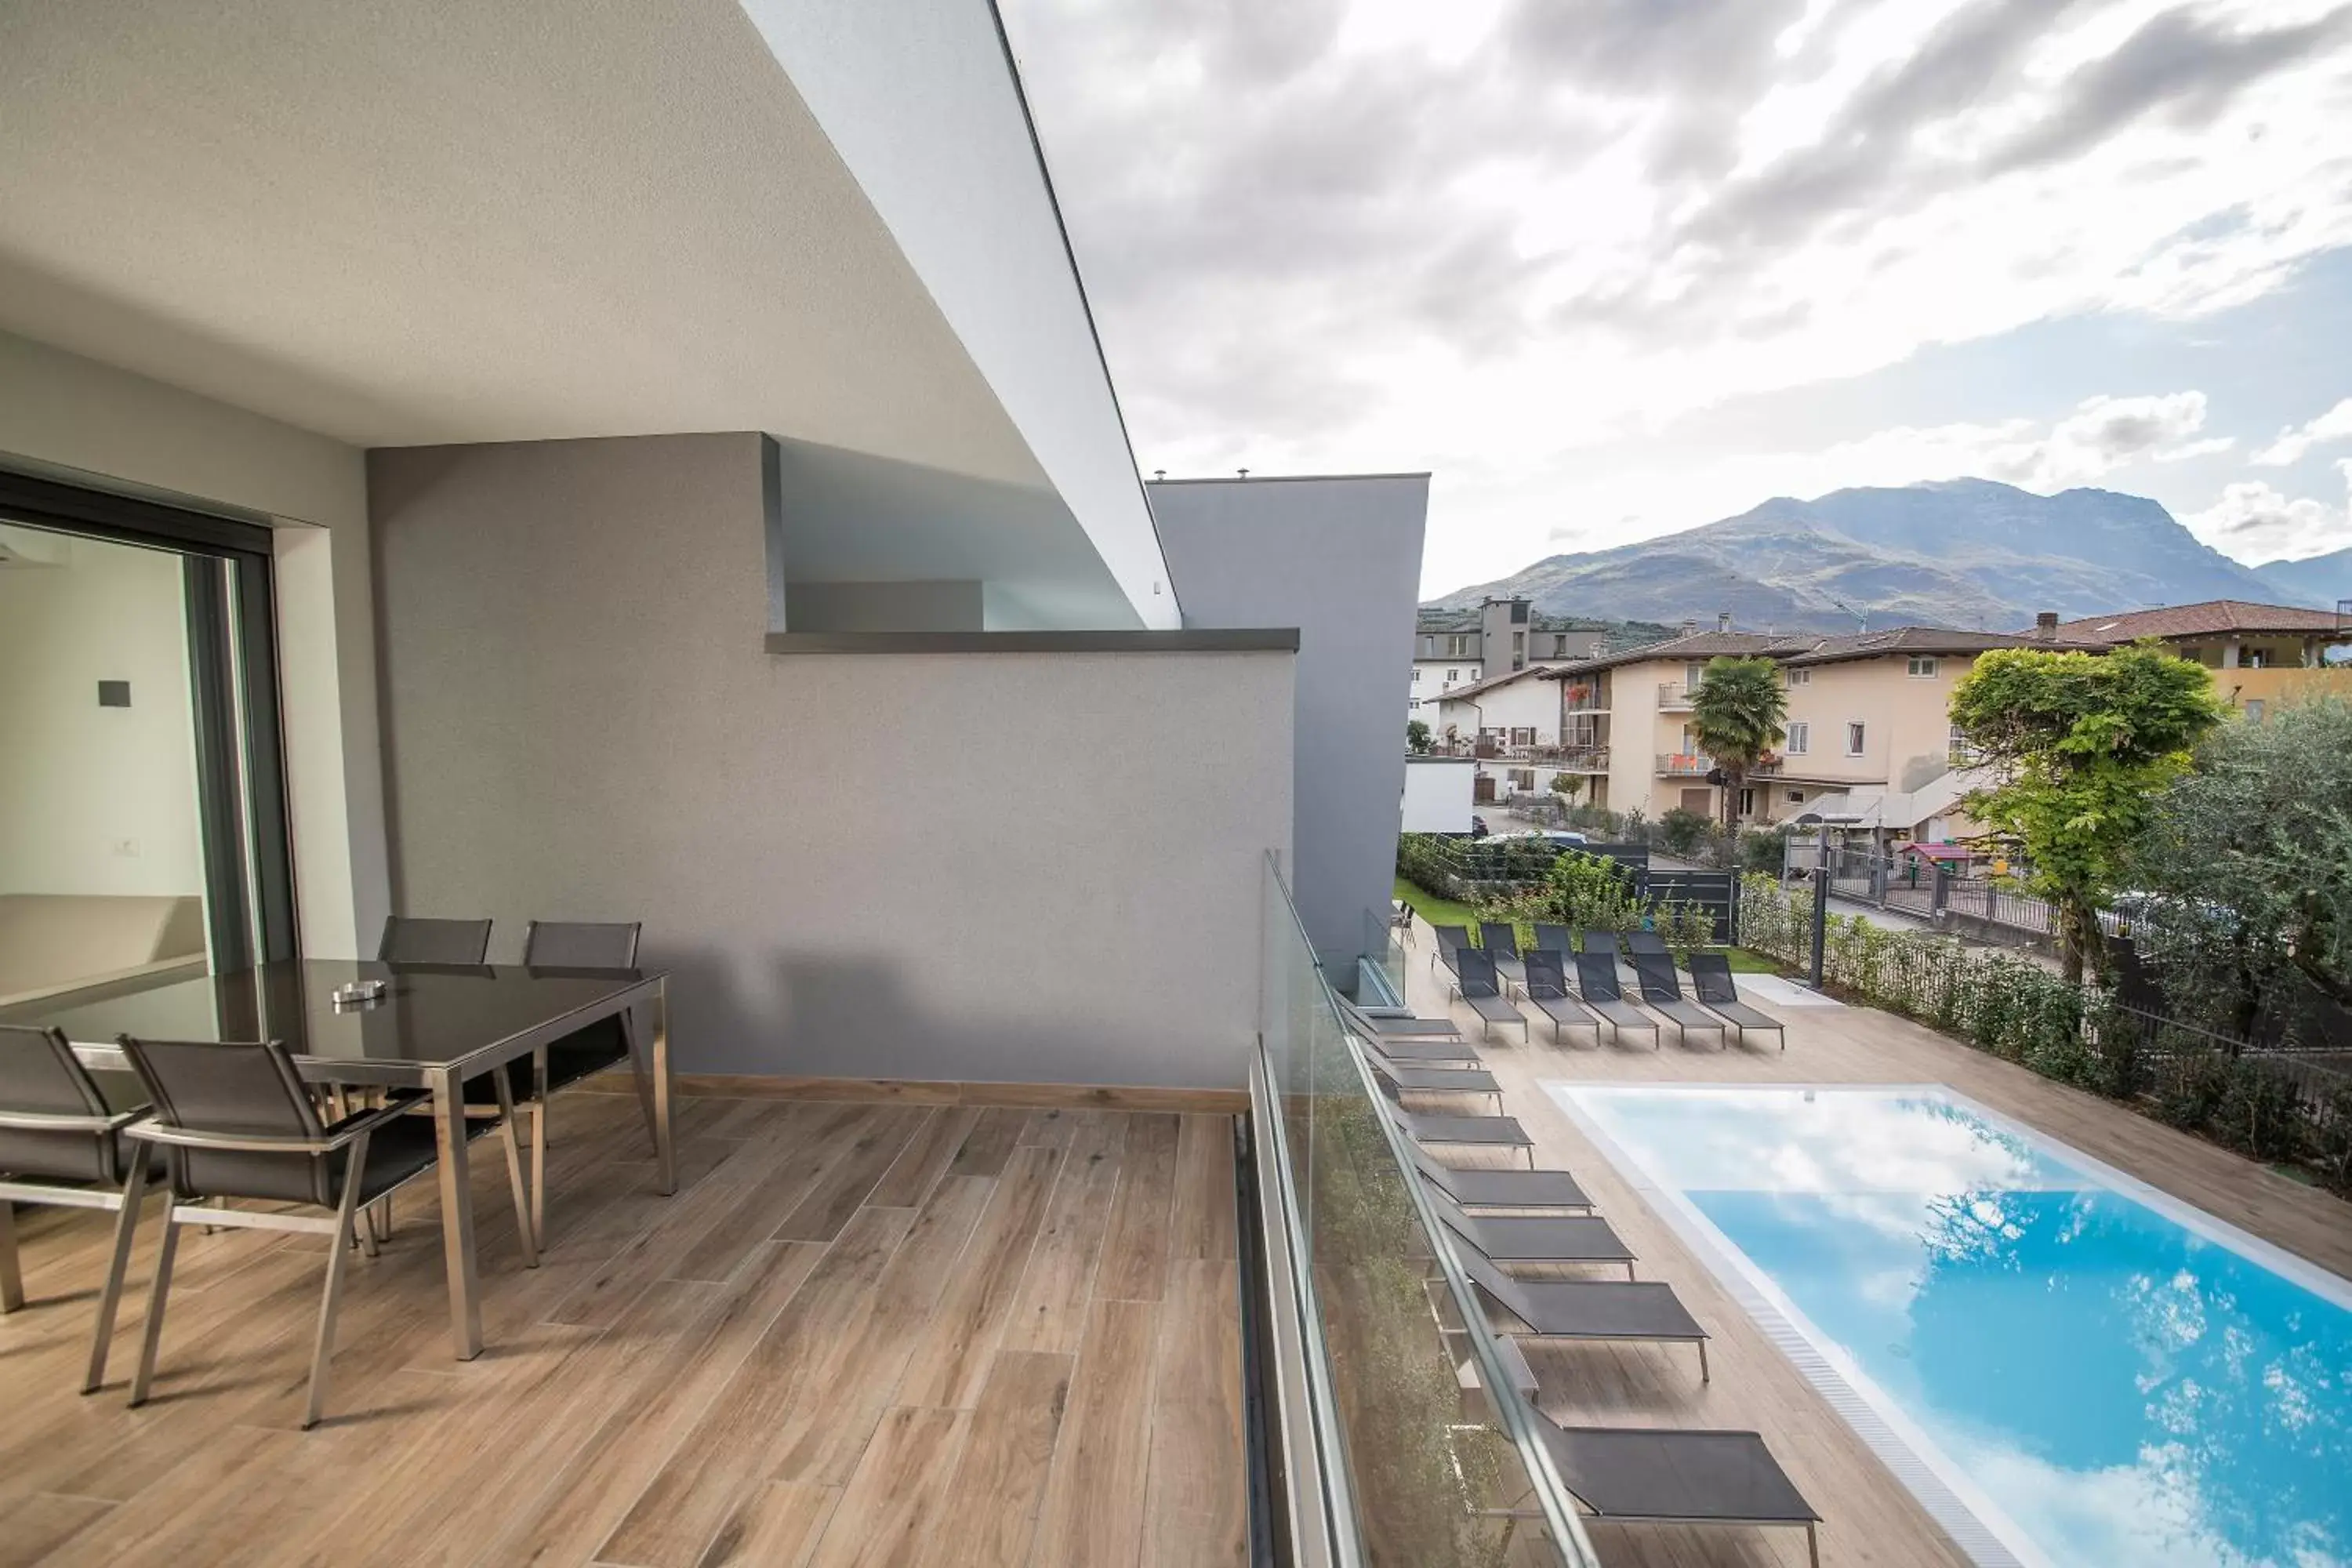
[[[2119,1197],[2145,1204],[2183,1229],[2225,1246],[2291,1284],[2352,1312],[2352,1281],[2321,1269],[2307,1258],[2265,1241],[2194,1204],[2084,1154],[2070,1143],[2025,1126],[1950,1084],[1628,1084],[1623,1079],[1538,1079],[1576,1128],[1592,1140],[1616,1173],[1668,1222],[1684,1246],[1705,1265],[1757,1331],[1797,1368],[1816,1394],[1863,1439],[1926,1514],[1943,1526],[1952,1544],[1978,1568],[2046,1568],[2049,1559],[2034,1540],[1992,1497],[1987,1497],[1952,1462],[1936,1439],[1922,1432],[1860,1366],[1846,1356],[1832,1335],[1813,1321],[1764,1274],[1748,1253],[1708,1220],[1679,1187],[1653,1175],[1576,1100],[1576,1091],[1602,1093],[1896,1093],[1936,1095],[1947,1105],[1983,1117],[1994,1131],[2025,1140],[2046,1159],[2077,1171]]]

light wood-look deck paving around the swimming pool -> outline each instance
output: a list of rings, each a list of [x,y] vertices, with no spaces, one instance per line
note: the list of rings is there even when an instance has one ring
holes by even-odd
[[[1451,1016],[1479,1039],[1479,1018],[1446,1001],[1446,973],[1430,971],[1430,929],[1416,922],[1406,950],[1406,999],[1428,1016]],[[1534,1009],[1522,1009],[1534,1013]],[[1543,1408],[1562,1422],[1628,1427],[1745,1427],[1823,1514],[1825,1568],[1959,1568],[1966,1559],[1893,1474],[1863,1446],[1813,1387],[1757,1333],[1715,1276],[1618,1178],[1599,1150],[1541,1088],[1576,1081],[1738,1081],[1738,1084],[1950,1084],[2096,1159],[2239,1225],[2265,1241],[2352,1276],[2352,1206],[2098,1095],[2053,1084],[2025,1067],[1945,1039],[1877,1009],[1766,1006],[1788,1023],[1788,1051],[1771,1046],[1677,1046],[1672,1027],[1656,1051],[1595,1046],[1592,1032],[1550,1041],[1536,1016],[1534,1039],[1498,1027],[1479,1044],[1503,1084],[1503,1110],[1536,1143],[1536,1164],[1573,1171],[1599,1213],[1639,1255],[1644,1279],[1665,1279],[1712,1335],[1715,1378],[1698,1382],[1679,1347],[1531,1347]],[[1418,1100],[1428,1110],[1489,1112],[1489,1103]],[[1444,1152],[1449,1164],[1515,1164]],[[1644,1530],[1595,1523],[1592,1544],[1609,1568],[1802,1568],[1804,1535],[1792,1530]]]

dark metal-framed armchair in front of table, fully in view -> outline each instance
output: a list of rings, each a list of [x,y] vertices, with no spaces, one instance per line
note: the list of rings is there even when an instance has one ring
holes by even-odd
[[[320,1232],[332,1241],[310,1345],[310,1401],[301,1422],[303,1429],[315,1427],[327,1408],[343,1265],[353,1246],[374,1251],[369,1232],[358,1222],[360,1208],[433,1171],[440,1159],[433,1121],[407,1114],[416,1098],[393,1095],[388,1105],[322,1124],[294,1058],[275,1039],[235,1044],[125,1034],[120,1044],[155,1100],[153,1114],[127,1126],[125,1135],[160,1147],[172,1182],[132,1403],[146,1403],[155,1380],[181,1225]],[[212,1199],[308,1204],[329,1213],[205,1206]],[[529,1225],[520,1190],[515,1222]],[[118,1255],[106,1288],[115,1293],[120,1286]]]

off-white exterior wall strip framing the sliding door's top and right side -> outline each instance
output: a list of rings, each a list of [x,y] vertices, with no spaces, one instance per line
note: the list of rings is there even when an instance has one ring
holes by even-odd
[[[278,527],[278,670],[303,947],[383,924],[367,480],[360,451],[160,381],[0,334],[0,465],[146,487]],[[365,933],[365,938],[362,938]]]

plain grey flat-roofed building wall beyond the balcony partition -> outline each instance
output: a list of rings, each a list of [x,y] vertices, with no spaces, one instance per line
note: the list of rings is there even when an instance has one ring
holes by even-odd
[[[1296,625],[1298,914],[1327,961],[1385,910],[1404,797],[1404,693],[1428,475],[1148,487],[1185,625]],[[1223,736],[1221,736],[1223,738]]]

